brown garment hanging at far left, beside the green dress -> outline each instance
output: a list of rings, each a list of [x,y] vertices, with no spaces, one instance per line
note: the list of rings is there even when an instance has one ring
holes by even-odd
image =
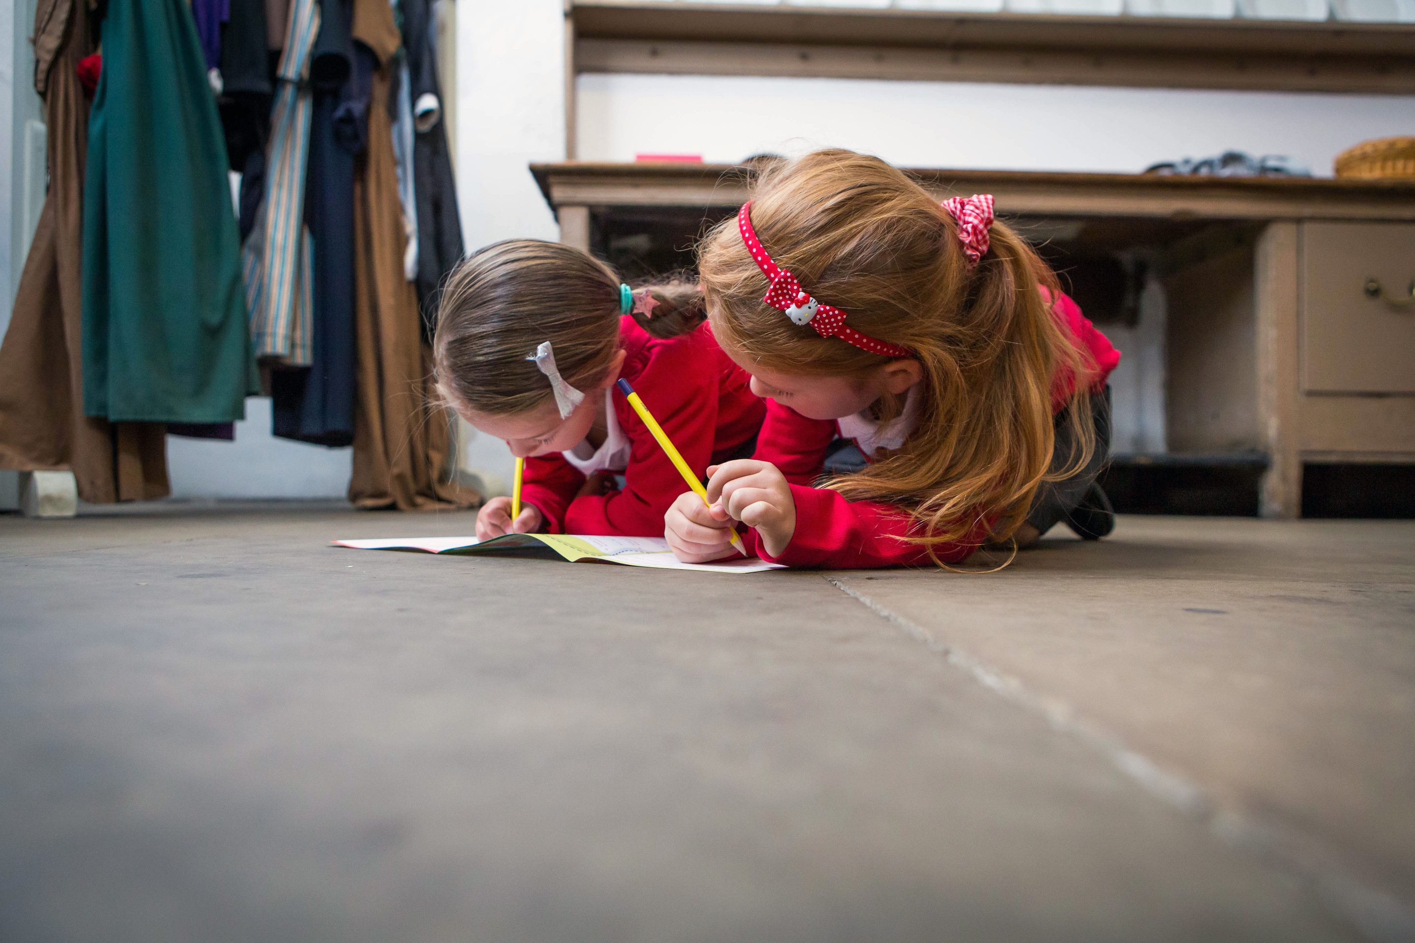
[[[71,468],[89,503],[167,495],[163,426],[83,414],[81,262],[88,99],[78,62],[93,49],[82,0],[41,0],[34,88],[44,96],[50,189],[0,345],[0,468]]]

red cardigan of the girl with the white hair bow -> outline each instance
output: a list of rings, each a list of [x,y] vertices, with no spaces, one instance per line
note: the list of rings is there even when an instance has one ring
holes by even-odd
[[[747,443],[766,414],[708,325],[671,339],[649,336],[634,318],[620,318],[625,379],[699,476]],[[600,393],[599,396],[604,396]],[[658,447],[634,407],[614,386],[607,393],[623,440],[624,489],[576,498],[586,475],[563,454],[526,458],[521,499],[545,515],[550,533],[662,537],[664,515],[683,492],[683,478]]]

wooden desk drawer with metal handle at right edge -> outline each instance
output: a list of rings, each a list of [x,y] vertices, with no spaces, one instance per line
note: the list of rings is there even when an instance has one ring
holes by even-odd
[[[1415,393],[1415,308],[1367,297],[1367,279],[1409,297],[1415,225],[1302,226],[1302,385],[1309,393]]]

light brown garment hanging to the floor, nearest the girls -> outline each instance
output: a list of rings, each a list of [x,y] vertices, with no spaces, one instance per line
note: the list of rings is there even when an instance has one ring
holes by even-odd
[[[350,500],[403,510],[470,506],[480,496],[449,478],[451,423],[432,383],[432,349],[417,327],[417,295],[403,277],[388,102],[399,35],[388,0],[354,0],[357,57],[372,69],[368,148],[354,178],[358,409]]]

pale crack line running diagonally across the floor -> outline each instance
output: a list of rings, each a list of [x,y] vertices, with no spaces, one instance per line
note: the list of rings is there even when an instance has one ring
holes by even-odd
[[[1322,848],[1320,840],[1290,827],[1255,821],[1242,812],[1220,804],[1189,778],[1162,768],[1128,746],[1119,735],[1078,717],[1070,704],[1029,690],[1017,679],[937,639],[924,626],[843,581],[829,575],[824,578],[988,690],[1040,715],[1058,734],[1078,739],[1145,792],[1189,816],[1225,844],[1259,858],[1269,867],[1309,881],[1330,909],[1373,943],[1415,943],[1415,909],[1351,877],[1330,853]]]

